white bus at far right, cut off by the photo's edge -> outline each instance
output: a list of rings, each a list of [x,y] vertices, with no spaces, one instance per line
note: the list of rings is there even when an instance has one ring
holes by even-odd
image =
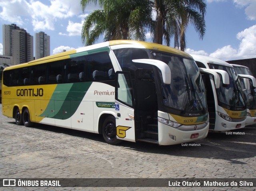
[[[232,64],[232,66],[237,74],[252,76],[248,67],[236,64]],[[240,81],[246,99],[247,116],[245,125],[253,125],[256,124],[256,89],[253,86],[253,81],[246,78],[240,78]]]

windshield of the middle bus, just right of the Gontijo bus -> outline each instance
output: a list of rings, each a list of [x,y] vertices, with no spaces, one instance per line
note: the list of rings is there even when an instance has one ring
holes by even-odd
[[[209,64],[210,69],[220,69],[224,70],[229,75],[230,84],[228,86],[220,83],[220,88],[216,89],[218,104],[229,110],[244,110],[246,106],[244,104],[244,100],[242,97],[242,90],[240,81],[236,80],[236,73],[234,68],[217,65],[217,64]]]

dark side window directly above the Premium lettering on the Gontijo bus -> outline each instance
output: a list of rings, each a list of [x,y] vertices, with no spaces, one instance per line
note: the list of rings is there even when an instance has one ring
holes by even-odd
[[[86,81],[114,80],[114,74],[108,52],[88,55],[86,62]]]

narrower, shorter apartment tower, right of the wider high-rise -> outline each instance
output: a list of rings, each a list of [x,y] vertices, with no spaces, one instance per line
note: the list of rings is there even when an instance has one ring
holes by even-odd
[[[50,56],[50,36],[44,32],[35,34],[35,59]]]

